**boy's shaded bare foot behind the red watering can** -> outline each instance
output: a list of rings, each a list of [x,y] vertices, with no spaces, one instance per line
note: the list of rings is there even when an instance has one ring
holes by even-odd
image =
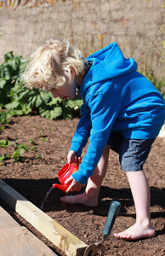
[[[68,204],[81,204],[83,206],[87,207],[96,207],[98,205],[97,198],[94,197],[88,197],[86,192],[80,195],[67,195],[60,198],[60,201],[63,201]]]

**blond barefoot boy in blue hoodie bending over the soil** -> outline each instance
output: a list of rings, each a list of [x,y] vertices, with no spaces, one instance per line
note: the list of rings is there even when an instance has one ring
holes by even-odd
[[[50,40],[31,55],[22,79],[26,86],[51,91],[54,97],[83,98],[82,117],[72,138],[68,162],[81,161],[65,183],[83,194],[61,201],[89,207],[98,204],[100,186],[108,165],[109,150],[119,154],[134,197],[136,222],[114,234],[127,240],[155,236],[150,217],[150,189],[143,165],[165,119],[165,102],[151,82],[137,71],[134,59],[126,59],[116,43],[87,59],[67,40]]]

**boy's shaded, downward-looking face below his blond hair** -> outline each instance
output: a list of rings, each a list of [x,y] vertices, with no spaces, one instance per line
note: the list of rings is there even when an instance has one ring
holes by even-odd
[[[75,79],[71,79],[71,82],[68,78],[66,78],[65,84],[63,84],[58,90],[52,89],[48,90],[52,93],[54,98],[60,97],[60,99],[70,98],[74,99],[76,96],[76,81]]]

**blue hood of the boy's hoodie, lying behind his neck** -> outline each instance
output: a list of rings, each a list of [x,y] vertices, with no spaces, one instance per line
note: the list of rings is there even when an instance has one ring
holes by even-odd
[[[106,79],[114,79],[137,70],[136,61],[132,58],[126,59],[117,43],[109,44],[93,55],[89,55],[87,59],[93,62],[84,78],[84,82],[86,79],[90,81],[88,85],[94,84],[95,81],[98,83]]]

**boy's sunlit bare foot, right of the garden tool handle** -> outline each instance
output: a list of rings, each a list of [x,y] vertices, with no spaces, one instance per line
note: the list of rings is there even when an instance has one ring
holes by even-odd
[[[150,227],[144,227],[140,224],[134,224],[128,230],[120,233],[115,233],[114,236],[125,240],[137,240],[141,238],[151,238],[155,236],[156,232],[152,225]]]

